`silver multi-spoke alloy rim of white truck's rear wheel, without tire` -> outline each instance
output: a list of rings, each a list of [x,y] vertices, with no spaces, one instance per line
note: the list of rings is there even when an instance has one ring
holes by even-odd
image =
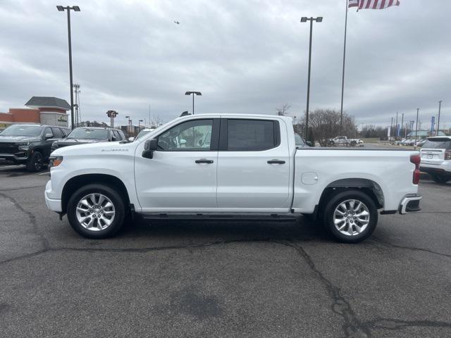
[[[369,225],[368,207],[357,199],[343,201],[335,208],[333,223],[342,234],[356,236]]]

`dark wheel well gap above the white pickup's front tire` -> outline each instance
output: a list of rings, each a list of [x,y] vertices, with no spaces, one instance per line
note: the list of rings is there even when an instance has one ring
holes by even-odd
[[[61,194],[62,213],[67,212],[70,196],[80,189],[80,187],[87,184],[104,184],[111,189],[114,189],[123,198],[126,208],[130,206],[128,190],[120,178],[108,174],[85,174],[72,177],[64,184],[63,192]]]

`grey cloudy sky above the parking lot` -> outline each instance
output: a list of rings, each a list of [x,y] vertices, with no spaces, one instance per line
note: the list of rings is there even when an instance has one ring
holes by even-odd
[[[31,96],[69,101],[67,18],[47,0],[0,1],[0,111]],[[109,109],[134,123],[159,115],[304,113],[309,25],[314,24],[311,108],[340,108],[344,0],[78,0],[73,76],[82,120]],[[398,111],[424,125],[438,111],[451,127],[451,1],[401,0],[348,13],[345,111],[359,124],[390,124]],[[178,20],[180,25],[173,23]],[[440,123],[440,124],[442,124]]]

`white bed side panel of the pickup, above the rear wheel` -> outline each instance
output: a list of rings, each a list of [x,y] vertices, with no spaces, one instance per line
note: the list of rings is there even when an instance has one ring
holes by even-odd
[[[329,184],[345,178],[363,178],[381,187],[383,210],[396,210],[404,195],[418,192],[418,185],[412,182],[415,169],[410,162],[412,154],[418,154],[418,151],[298,149],[293,209],[299,213],[313,213]],[[303,174],[311,177],[312,173],[318,177],[316,182],[302,182]]]

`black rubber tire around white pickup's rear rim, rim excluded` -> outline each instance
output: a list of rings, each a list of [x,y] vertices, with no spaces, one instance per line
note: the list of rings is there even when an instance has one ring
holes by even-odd
[[[335,227],[334,223],[334,213],[335,208],[337,208],[340,204],[348,200],[356,200],[362,202],[364,206],[368,209],[369,213],[369,223],[366,225],[364,230],[359,234],[343,234]],[[359,243],[364,239],[371,236],[373,231],[376,229],[376,225],[378,223],[378,210],[376,204],[370,196],[361,192],[359,190],[346,190],[343,192],[338,192],[337,194],[330,196],[330,200],[327,202],[326,206],[323,208],[323,225],[326,231],[338,242],[342,243]],[[350,215],[350,222],[355,222],[355,217]],[[343,216],[343,218],[345,218]],[[354,218],[354,219],[352,219]],[[343,224],[343,223],[341,223]],[[350,223],[349,223],[350,224]],[[357,232],[357,227],[355,226],[357,223],[353,223],[352,225],[347,225],[345,230],[349,230],[350,227],[352,229],[351,232]]]

